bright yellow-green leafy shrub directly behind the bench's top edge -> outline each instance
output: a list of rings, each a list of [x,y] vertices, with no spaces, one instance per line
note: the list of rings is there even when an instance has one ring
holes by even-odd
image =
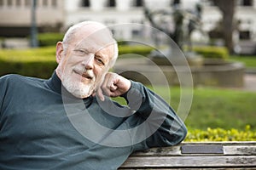
[[[189,130],[187,142],[207,142],[207,141],[255,141],[256,132],[251,131],[251,127],[247,125],[244,131],[232,128],[225,130],[223,128],[210,128],[206,131],[199,129]]]

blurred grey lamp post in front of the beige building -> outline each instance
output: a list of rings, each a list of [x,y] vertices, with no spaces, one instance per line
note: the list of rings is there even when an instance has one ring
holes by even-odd
[[[36,21],[37,0],[32,0],[32,20],[31,20],[31,47],[38,47],[38,29]]]

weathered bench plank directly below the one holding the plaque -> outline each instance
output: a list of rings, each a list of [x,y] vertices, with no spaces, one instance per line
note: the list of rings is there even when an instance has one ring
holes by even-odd
[[[256,156],[133,156],[122,167],[256,167]]]

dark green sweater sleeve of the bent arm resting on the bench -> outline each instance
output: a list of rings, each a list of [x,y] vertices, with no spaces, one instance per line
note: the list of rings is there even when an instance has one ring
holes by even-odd
[[[171,146],[183,141],[187,128],[166,101],[139,82],[123,95],[134,114],[129,117],[134,150]]]

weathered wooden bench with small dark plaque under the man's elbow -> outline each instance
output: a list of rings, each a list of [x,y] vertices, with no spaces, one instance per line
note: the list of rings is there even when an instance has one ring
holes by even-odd
[[[256,142],[153,148],[132,154],[119,169],[256,169]]]

